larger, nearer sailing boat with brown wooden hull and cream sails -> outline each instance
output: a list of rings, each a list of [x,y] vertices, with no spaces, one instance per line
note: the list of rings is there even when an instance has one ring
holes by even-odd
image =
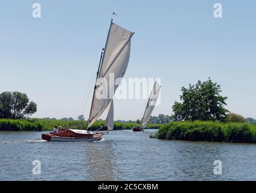
[[[42,134],[42,139],[46,141],[98,141],[105,133],[93,133],[89,129],[106,109],[107,118],[104,125],[107,131],[113,130],[113,97],[129,63],[130,42],[133,34],[115,24],[113,19],[111,20],[106,45],[100,55],[87,130],[68,128],[59,133]]]

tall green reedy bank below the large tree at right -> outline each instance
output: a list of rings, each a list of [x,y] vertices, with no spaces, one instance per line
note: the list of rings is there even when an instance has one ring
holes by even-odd
[[[216,142],[256,142],[256,125],[220,122],[171,122],[162,125],[154,136],[158,139]]]

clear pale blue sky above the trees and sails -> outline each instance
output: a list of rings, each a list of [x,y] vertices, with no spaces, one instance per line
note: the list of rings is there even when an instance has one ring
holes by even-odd
[[[32,16],[36,2],[40,18]],[[213,16],[217,2],[221,18]],[[33,117],[87,119],[112,11],[116,24],[135,32],[125,78],[161,78],[152,115],[171,115],[182,86],[211,77],[229,111],[256,118],[254,0],[2,0],[0,92],[27,93],[37,104]],[[146,103],[116,100],[114,119],[140,119]]]

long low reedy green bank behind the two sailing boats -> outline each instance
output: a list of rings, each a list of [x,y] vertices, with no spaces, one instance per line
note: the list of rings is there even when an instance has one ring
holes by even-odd
[[[0,131],[50,131],[54,125],[62,128],[75,127],[76,129],[86,129],[87,121],[64,121],[45,119],[0,119]],[[97,130],[104,124],[104,121],[97,121],[91,126],[92,131]],[[127,130],[139,124],[134,122],[114,122],[114,130]],[[159,124],[149,124],[147,128],[159,128]]]

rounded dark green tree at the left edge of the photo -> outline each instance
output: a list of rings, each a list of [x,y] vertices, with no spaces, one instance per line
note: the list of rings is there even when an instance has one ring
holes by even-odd
[[[2,92],[0,94],[0,118],[21,119],[32,115],[37,105],[29,101],[28,96],[21,92]]]

